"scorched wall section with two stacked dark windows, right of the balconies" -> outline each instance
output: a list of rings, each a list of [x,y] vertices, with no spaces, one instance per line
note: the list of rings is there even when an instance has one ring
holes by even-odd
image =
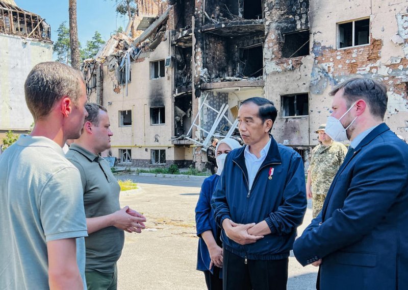
[[[268,1],[264,7],[265,96],[278,111],[272,134],[278,142],[308,146],[313,66],[309,1]]]

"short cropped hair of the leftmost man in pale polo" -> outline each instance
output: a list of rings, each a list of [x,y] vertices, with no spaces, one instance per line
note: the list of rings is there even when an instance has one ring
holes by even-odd
[[[41,62],[34,66],[24,83],[25,102],[34,120],[46,117],[64,96],[77,105],[81,82],[85,83],[81,72],[69,65]]]

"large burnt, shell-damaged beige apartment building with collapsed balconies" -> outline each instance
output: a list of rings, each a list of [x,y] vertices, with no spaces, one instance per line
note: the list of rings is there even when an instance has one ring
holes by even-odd
[[[84,66],[108,108],[112,156],[135,166],[201,168],[213,136],[239,137],[242,101],[274,102],[274,138],[307,165],[328,92],[355,76],[387,85],[386,122],[408,137],[408,11],[390,0],[137,1],[132,37]]]

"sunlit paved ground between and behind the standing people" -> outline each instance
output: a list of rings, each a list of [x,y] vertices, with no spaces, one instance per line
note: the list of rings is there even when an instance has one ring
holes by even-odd
[[[123,191],[122,206],[146,215],[147,228],[141,234],[125,233],[125,245],[118,262],[118,288],[143,290],[206,289],[204,276],[195,270],[197,242],[194,208],[202,179],[172,179],[121,175],[139,189]],[[312,218],[310,205],[299,233]],[[301,267],[289,258],[289,290],[315,289],[317,268]]]

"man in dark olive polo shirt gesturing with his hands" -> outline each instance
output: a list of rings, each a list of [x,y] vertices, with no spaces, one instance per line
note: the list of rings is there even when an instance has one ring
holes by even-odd
[[[120,186],[109,163],[98,153],[111,147],[107,110],[94,103],[85,106],[82,135],[71,144],[66,157],[81,174],[88,237],[85,238],[85,276],[88,290],[116,289],[116,262],[124,243],[124,232],[140,233],[145,217],[128,206],[120,209]]]

